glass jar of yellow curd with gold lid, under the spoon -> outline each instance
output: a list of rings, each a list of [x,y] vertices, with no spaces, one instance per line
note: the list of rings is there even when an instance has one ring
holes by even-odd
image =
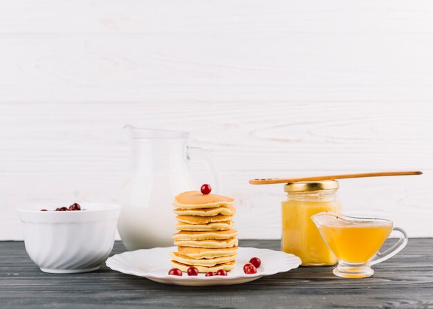
[[[337,263],[311,220],[319,212],[341,213],[337,189],[336,180],[293,182],[284,186],[287,200],[282,202],[282,251],[299,256],[304,266]]]

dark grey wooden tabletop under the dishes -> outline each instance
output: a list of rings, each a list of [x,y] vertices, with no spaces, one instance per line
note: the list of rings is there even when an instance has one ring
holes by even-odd
[[[279,241],[241,241],[279,249]],[[113,252],[125,251],[116,242]],[[165,285],[102,267],[86,274],[46,274],[23,242],[0,242],[0,308],[433,308],[433,238],[412,238],[367,279],[326,268],[297,268],[240,285]]]

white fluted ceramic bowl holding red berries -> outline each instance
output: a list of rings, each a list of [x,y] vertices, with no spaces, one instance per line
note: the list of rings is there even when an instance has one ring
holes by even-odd
[[[80,211],[41,212],[68,204],[19,207],[26,251],[43,272],[97,270],[113,249],[120,205],[80,203]]]

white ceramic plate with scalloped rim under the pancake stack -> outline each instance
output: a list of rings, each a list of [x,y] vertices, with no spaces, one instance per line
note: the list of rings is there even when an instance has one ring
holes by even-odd
[[[106,264],[112,270],[145,277],[160,283],[196,286],[245,283],[270,274],[277,274],[277,272],[287,272],[301,264],[301,259],[293,254],[253,247],[239,247],[236,265],[228,272],[227,276],[205,277],[205,274],[188,276],[184,272],[183,276],[180,277],[168,274],[172,268],[168,252],[176,250],[176,247],[158,247],[124,252],[111,256],[107,259]],[[253,256],[261,259],[261,266],[257,269],[256,274],[245,274],[243,265],[248,263]]]

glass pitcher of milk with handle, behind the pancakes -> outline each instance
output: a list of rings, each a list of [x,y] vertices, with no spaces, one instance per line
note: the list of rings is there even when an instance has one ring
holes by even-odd
[[[187,147],[187,132],[125,126],[131,136],[127,177],[120,189],[122,211],[118,230],[128,250],[173,245],[176,232],[174,196],[193,187],[187,161],[202,156],[207,163],[212,191],[219,191],[219,174],[208,151]]]

